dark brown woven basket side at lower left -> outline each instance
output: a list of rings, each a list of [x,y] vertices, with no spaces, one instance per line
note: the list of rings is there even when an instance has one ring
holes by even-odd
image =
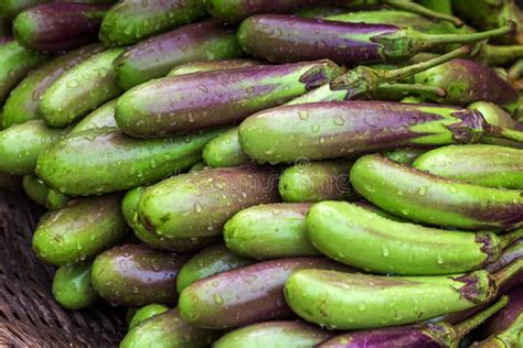
[[[0,191],[0,347],[114,347],[124,313],[99,304],[66,311],[53,300],[54,268],[31,251],[42,210],[21,193]]]

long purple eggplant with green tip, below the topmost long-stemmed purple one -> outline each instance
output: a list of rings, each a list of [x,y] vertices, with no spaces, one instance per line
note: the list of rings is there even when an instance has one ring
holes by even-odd
[[[318,61],[166,77],[122,95],[116,121],[122,132],[138,138],[234,123],[327,84],[342,72],[330,61]]]

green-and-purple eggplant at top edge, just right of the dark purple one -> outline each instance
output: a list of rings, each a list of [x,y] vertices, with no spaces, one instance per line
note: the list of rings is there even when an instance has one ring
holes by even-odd
[[[121,0],[107,11],[99,37],[109,46],[130,45],[204,15],[203,0]]]

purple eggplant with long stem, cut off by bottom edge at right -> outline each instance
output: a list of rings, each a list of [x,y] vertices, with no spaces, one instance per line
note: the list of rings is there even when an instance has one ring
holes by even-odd
[[[508,303],[503,296],[492,306],[459,325],[445,322],[361,330],[325,340],[317,348],[355,347],[458,347],[460,340]]]

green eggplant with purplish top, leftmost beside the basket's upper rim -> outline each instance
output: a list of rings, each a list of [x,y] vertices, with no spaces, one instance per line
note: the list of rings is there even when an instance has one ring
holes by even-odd
[[[119,194],[71,202],[38,225],[33,250],[51,264],[84,261],[115,246],[127,235]]]

